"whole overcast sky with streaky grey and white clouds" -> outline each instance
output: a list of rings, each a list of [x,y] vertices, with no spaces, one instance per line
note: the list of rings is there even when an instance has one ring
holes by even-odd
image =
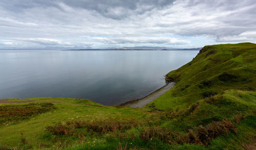
[[[0,0],[0,49],[256,43],[255,0]]]

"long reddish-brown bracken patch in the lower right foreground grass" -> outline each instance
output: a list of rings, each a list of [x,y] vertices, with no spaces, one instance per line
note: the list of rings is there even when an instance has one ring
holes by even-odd
[[[237,129],[227,120],[212,121],[206,127],[202,125],[189,129],[187,134],[181,134],[166,128],[150,127],[140,132],[140,138],[144,141],[151,141],[155,138],[169,144],[203,144],[207,145],[212,139],[227,135],[229,132],[237,134]]]

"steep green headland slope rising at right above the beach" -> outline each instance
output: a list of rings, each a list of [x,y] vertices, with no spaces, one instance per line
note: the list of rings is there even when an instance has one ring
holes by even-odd
[[[158,109],[185,109],[227,89],[255,91],[256,44],[205,46],[189,63],[166,75],[176,86],[156,99]]]

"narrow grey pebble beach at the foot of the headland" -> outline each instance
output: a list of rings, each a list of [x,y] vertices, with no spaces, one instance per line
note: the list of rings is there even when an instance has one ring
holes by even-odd
[[[172,89],[175,86],[175,82],[169,82],[163,87],[153,91],[150,94],[147,94],[146,96],[140,98],[140,99],[134,99],[132,101],[128,101],[125,103],[120,104],[120,106],[126,107],[134,107],[134,108],[143,108],[146,106],[148,103],[151,103],[154,101],[156,98],[160,97],[162,94],[167,92],[168,90]]]

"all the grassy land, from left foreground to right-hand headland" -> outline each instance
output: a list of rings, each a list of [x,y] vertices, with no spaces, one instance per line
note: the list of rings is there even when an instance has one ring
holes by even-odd
[[[0,99],[0,149],[253,149],[256,44],[205,46],[143,109],[87,99]]]

